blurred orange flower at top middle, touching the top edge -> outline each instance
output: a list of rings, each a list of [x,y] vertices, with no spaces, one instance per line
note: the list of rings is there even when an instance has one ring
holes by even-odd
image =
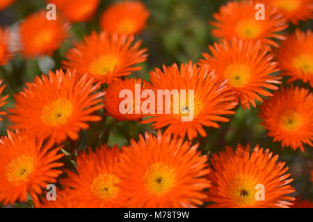
[[[136,34],[145,28],[150,12],[139,1],[122,1],[109,6],[100,19],[104,31],[120,34]]]

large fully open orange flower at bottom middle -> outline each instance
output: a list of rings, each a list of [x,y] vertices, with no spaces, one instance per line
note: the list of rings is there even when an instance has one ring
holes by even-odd
[[[129,196],[127,207],[198,207],[210,182],[207,155],[198,145],[170,135],[151,134],[131,140],[124,149],[120,170],[121,189]]]

